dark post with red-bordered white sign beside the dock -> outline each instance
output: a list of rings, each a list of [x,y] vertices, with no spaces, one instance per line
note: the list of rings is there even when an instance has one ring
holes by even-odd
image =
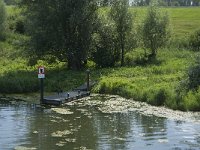
[[[39,66],[38,79],[40,79],[40,104],[43,104],[43,99],[44,99],[44,78],[45,78],[45,69],[43,66]]]

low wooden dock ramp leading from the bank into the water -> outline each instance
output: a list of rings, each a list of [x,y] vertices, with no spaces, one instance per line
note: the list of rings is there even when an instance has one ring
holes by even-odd
[[[89,87],[94,85],[94,83],[90,83]],[[87,83],[84,85],[69,91],[69,92],[62,92],[62,93],[57,93],[52,96],[47,96],[44,97],[42,100],[42,104],[45,105],[62,105],[64,103],[77,100],[83,97],[87,97],[90,95],[90,91],[88,91]]]

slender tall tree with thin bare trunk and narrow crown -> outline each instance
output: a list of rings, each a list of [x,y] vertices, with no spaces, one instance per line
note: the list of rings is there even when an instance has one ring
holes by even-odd
[[[128,33],[132,29],[132,14],[128,11],[128,0],[115,0],[110,16],[115,23],[118,43],[121,47],[121,66],[124,66],[125,44]]]

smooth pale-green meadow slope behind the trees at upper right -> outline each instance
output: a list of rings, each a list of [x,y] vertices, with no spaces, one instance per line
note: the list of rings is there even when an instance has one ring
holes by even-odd
[[[136,12],[136,22],[142,21],[146,10],[146,7],[131,8],[131,11]],[[200,7],[169,7],[161,8],[161,10],[169,14],[172,32],[176,38],[188,37],[200,28]]]

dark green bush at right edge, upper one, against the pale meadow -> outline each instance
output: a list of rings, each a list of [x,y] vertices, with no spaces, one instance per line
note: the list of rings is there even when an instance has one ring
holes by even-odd
[[[190,36],[189,46],[195,51],[200,51],[200,29]]]

